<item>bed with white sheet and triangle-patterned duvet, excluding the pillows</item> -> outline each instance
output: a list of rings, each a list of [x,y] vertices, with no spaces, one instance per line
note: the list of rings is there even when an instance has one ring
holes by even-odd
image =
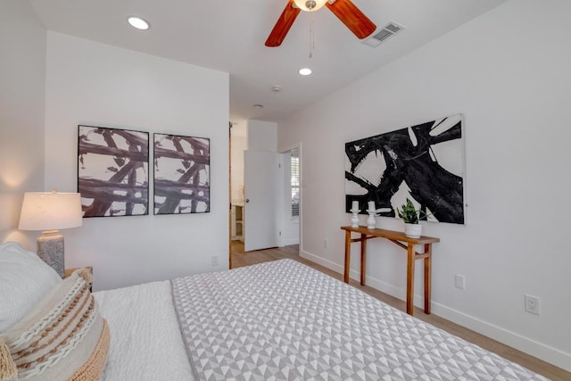
[[[546,379],[293,260],[93,296],[105,381]]]

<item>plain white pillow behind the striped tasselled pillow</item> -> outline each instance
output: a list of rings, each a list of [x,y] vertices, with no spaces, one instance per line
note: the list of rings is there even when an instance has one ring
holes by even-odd
[[[26,312],[62,278],[35,253],[20,244],[0,244],[0,334]]]

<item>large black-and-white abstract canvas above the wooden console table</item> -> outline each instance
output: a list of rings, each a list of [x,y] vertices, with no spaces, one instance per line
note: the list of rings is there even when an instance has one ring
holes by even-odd
[[[461,114],[345,144],[345,211],[375,202],[396,217],[407,198],[427,220],[465,223],[464,131]]]

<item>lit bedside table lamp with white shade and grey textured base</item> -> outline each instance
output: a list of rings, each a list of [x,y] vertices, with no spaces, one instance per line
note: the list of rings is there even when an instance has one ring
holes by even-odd
[[[37,237],[37,256],[63,277],[63,236],[59,230],[83,223],[79,193],[27,192],[21,206],[21,230],[43,230]]]

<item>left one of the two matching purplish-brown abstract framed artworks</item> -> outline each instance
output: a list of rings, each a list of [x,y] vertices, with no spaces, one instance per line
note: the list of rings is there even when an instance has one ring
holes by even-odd
[[[148,214],[149,134],[79,126],[78,192],[84,217]]]

